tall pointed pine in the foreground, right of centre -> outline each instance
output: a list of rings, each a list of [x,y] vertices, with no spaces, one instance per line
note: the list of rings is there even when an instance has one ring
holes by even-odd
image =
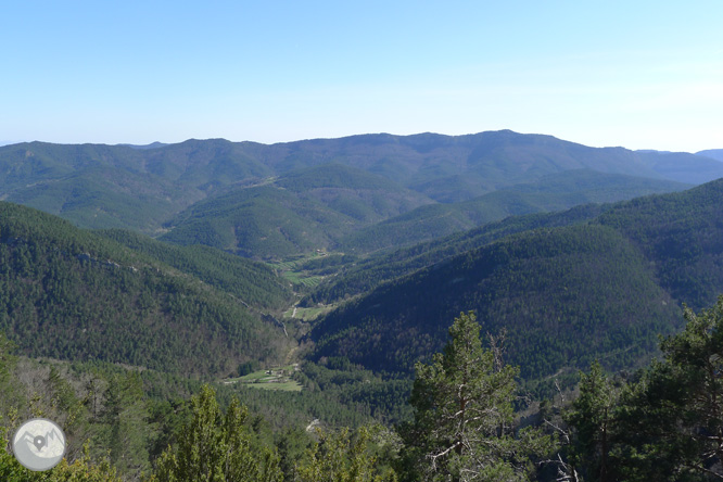
[[[473,313],[455,319],[444,352],[416,371],[415,420],[402,429],[410,480],[524,480],[531,457],[550,448],[538,432],[516,436],[519,370],[503,364],[498,347],[482,347]]]

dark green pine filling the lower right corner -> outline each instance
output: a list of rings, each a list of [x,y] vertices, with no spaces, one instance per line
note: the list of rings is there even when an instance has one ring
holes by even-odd
[[[616,465],[630,481],[723,480],[723,296],[661,343],[623,394]]]

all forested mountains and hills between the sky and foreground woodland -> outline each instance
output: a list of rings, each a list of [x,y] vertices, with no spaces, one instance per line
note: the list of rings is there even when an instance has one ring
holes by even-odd
[[[33,142],[0,174],[0,326],[33,356],[208,376],[300,341],[408,373],[474,309],[544,379],[630,366],[723,291],[723,163],[698,154],[511,131]],[[293,306],[330,313],[289,337]]]

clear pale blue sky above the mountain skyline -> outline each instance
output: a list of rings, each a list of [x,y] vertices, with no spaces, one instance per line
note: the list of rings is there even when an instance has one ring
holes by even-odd
[[[0,141],[723,148],[723,1],[13,1]]]

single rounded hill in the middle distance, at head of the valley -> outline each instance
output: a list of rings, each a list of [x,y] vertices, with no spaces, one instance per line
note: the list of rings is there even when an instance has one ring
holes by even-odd
[[[427,202],[382,177],[322,165],[196,203],[169,223],[162,239],[278,259],[335,246],[355,229]]]

